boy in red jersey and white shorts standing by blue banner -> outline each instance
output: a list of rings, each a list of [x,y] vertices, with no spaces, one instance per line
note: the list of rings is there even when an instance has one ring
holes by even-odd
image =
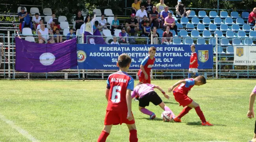
[[[198,72],[197,72],[197,67],[198,67],[197,52],[195,52],[196,51],[196,47],[195,47],[195,45],[191,45],[190,48],[191,48],[192,54],[190,56],[188,78],[191,78],[191,73],[192,72],[193,72],[193,74],[198,76]]]

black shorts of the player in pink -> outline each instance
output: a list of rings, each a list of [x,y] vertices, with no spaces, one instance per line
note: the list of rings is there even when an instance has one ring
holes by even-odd
[[[147,93],[144,95],[142,98],[139,98],[139,106],[140,107],[145,107],[149,106],[149,102],[152,102],[154,105],[159,105],[161,104],[162,99],[158,96],[158,94],[154,91]]]

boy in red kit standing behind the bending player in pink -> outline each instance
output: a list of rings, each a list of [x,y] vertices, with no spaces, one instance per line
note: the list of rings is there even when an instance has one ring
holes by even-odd
[[[148,56],[141,62],[138,72],[139,82],[150,84],[150,70],[154,65],[156,55],[156,47],[150,47]]]

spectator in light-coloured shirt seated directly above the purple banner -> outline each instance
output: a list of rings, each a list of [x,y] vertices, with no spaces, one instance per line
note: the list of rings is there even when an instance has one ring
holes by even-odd
[[[41,29],[38,31],[38,38],[39,38],[39,43],[54,43],[53,36],[49,36],[50,34],[53,34],[52,31],[49,29],[45,28],[45,25],[41,23]]]

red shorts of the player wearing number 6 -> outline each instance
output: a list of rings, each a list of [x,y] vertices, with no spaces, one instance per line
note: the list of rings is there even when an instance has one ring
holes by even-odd
[[[132,117],[134,115],[132,114]],[[127,119],[127,112],[125,111],[111,111],[107,110],[104,125],[118,125],[118,124],[134,124],[135,120],[129,121]]]

